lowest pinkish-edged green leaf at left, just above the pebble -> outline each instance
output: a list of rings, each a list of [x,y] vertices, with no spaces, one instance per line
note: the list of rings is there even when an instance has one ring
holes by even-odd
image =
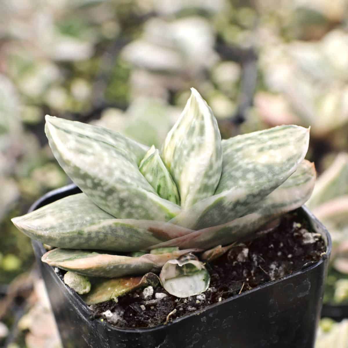
[[[145,254],[140,257],[100,254],[72,249],[53,249],[41,260],[50,266],[74,271],[90,277],[118,278],[156,272],[168,261],[200,249],[174,251],[165,254]]]

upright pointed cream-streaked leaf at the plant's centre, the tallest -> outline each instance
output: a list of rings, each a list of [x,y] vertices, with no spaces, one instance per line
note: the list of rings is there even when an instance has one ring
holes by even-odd
[[[222,168],[221,135],[211,108],[194,88],[164,141],[163,158],[183,208],[214,194]]]

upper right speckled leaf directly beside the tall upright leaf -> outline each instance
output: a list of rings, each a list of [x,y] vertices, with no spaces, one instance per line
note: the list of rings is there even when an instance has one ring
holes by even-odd
[[[255,210],[304,159],[309,129],[279,126],[222,141],[222,174],[215,195],[171,222],[199,230],[227,223]]]

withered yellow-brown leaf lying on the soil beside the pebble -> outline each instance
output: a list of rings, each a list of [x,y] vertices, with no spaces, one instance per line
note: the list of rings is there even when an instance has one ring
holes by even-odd
[[[88,305],[96,304],[116,300],[119,296],[142,286],[157,286],[158,284],[159,278],[154,273],[147,273],[143,277],[99,279],[92,285],[92,290],[83,296],[83,299]]]

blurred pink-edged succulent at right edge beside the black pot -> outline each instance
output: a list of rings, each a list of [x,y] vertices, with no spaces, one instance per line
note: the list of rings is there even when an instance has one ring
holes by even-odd
[[[333,283],[333,299],[337,303],[348,300],[348,154],[337,155],[332,165],[319,177],[307,205],[320,219],[332,237],[330,264],[341,273],[329,271],[328,282]],[[344,275],[344,276],[343,276]],[[338,278],[337,278],[338,276]]]

